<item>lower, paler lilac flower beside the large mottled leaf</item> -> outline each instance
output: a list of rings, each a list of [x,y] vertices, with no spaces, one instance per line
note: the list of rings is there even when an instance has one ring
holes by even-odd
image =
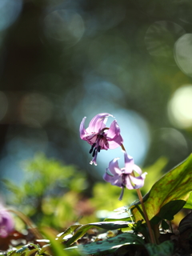
[[[134,159],[124,152],[125,167],[120,169],[118,166],[118,159],[110,161],[109,167],[106,168],[106,173],[103,178],[111,185],[119,186],[122,188],[122,194],[119,200],[122,199],[123,190],[126,187],[129,190],[139,189],[144,185],[146,173],[142,174],[142,170],[134,164]],[[134,172],[138,174],[135,177]]]

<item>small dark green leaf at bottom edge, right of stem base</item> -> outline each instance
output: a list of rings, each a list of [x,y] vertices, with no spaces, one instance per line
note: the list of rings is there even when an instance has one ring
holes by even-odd
[[[150,256],[171,256],[174,253],[174,243],[171,241],[162,242],[158,246],[147,243],[145,246]]]

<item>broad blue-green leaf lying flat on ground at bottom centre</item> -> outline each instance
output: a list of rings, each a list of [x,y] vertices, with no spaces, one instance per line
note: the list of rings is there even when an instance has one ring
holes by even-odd
[[[86,245],[74,246],[72,248],[66,248],[66,250],[80,250],[82,254],[112,254],[115,250],[118,250],[121,246],[126,245],[144,245],[142,238],[139,238],[135,234],[123,233],[118,234],[114,238],[108,238],[103,241],[90,242]]]

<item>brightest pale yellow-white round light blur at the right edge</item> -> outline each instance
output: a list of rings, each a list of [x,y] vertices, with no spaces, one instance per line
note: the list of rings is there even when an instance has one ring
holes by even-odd
[[[168,115],[174,126],[184,129],[192,126],[192,85],[178,88],[168,103]]]

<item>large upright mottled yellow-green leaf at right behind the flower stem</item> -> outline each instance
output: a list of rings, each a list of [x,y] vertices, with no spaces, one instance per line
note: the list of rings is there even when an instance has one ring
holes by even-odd
[[[159,213],[163,216],[168,214],[169,219],[181,210],[192,191],[192,154],[184,162],[170,170],[158,182],[154,183],[150,192],[143,198],[149,219]],[[170,209],[170,204],[173,206]],[[164,208],[162,208],[164,206]],[[162,212],[161,212],[162,210]],[[134,220],[143,219],[140,203],[131,206]]]

